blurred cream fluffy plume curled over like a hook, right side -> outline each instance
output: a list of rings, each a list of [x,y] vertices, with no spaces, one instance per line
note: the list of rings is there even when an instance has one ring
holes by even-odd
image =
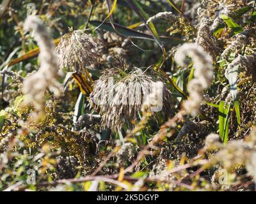
[[[212,59],[205,54],[200,46],[194,43],[186,43],[178,48],[175,53],[175,61],[181,66],[188,66],[187,55],[193,59],[195,78],[188,83],[189,99],[184,103],[184,109],[195,117],[200,110],[203,91],[209,87],[213,77]]]

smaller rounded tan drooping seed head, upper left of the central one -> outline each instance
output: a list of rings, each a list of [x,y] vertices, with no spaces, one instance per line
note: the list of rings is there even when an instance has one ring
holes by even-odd
[[[61,69],[84,73],[86,66],[97,66],[100,54],[99,45],[83,30],[71,31],[61,37],[56,47],[58,64]]]

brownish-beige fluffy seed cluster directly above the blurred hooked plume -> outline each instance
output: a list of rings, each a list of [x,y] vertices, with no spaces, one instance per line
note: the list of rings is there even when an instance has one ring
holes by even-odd
[[[206,53],[211,55],[213,61],[215,61],[221,49],[218,46],[216,38],[212,35],[211,25],[211,20],[207,18],[202,20],[196,37],[196,45],[200,45]]]

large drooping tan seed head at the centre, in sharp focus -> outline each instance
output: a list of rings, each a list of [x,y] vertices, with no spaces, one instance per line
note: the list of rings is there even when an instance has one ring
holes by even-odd
[[[99,80],[95,81],[90,95],[91,105],[102,115],[102,124],[113,130],[139,118],[143,101],[147,98],[152,84],[162,80],[157,73],[143,72],[140,68],[129,71],[124,62],[119,68],[105,69]],[[159,114],[173,115],[172,94],[163,89],[163,109]],[[157,117],[157,112],[154,112]]]

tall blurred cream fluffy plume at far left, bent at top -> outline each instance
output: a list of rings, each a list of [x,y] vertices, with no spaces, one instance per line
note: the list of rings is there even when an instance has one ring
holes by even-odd
[[[61,85],[58,82],[60,75],[52,39],[40,18],[29,16],[26,19],[24,30],[29,31],[31,29],[34,31],[35,40],[40,48],[40,68],[36,73],[28,75],[24,79],[22,91],[26,94],[26,98],[23,104],[33,103],[36,112],[38,112],[35,116],[40,117],[44,113],[45,91],[49,89],[56,96],[61,94]]]

